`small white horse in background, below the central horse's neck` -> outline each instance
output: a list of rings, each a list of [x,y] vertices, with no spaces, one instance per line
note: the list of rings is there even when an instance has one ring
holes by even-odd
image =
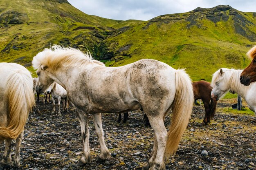
[[[63,111],[66,111],[68,108],[68,98],[67,91],[58,83],[52,83],[46,90],[46,93],[52,95],[52,113],[55,112],[55,99],[58,100],[58,115],[61,115],[61,100],[63,102]]]

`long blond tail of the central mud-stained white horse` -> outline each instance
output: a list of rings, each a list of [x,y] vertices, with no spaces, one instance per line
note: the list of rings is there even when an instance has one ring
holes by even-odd
[[[175,155],[181,137],[189,123],[193,108],[193,87],[189,75],[181,70],[175,71],[176,94],[172,106],[173,117],[169,128],[165,157]]]

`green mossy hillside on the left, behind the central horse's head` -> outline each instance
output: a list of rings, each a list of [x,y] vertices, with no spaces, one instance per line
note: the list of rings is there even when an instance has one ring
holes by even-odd
[[[31,68],[32,57],[50,44],[96,51],[119,22],[87,15],[67,0],[0,0],[0,62]]]

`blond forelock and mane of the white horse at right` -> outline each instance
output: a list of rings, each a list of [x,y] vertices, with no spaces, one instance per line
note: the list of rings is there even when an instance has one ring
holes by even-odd
[[[245,94],[250,86],[244,86],[240,83],[240,74],[243,70],[235,70],[228,68],[221,68],[223,74],[220,74],[220,69],[213,74],[211,86],[216,86],[216,82],[226,82],[226,86],[229,87],[230,90],[238,93],[238,95],[245,97]],[[228,92],[228,91],[227,91]]]

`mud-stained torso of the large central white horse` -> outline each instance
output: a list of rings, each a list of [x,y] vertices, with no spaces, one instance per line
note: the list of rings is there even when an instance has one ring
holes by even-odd
[[[149,59],[116,68],[95,67],[81,73],[75,82],[69,98],[95,112],[122,113],[140,108],[145,101],[157,105],[175,95],[175,69]]]

